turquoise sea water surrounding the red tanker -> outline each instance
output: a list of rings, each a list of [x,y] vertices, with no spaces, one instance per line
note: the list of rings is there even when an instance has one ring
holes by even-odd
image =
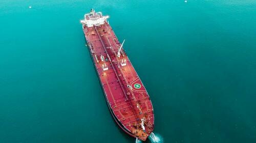
[[[2,0],[0,143],[135,142],[84,46],[91,8],[126,39],[164,142],[256,142],[256,1]]]

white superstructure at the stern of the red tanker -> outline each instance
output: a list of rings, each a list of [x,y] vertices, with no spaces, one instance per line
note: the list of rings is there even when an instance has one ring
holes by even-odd
[[[104,24],[106,19],[109,16],[102,16],[101,12],[95,12],[94,9],[91,9],[91,12],[88,14],[84,14],[84,19],[81,20],[82,26],[93,27],[93,25],[101,25]]]

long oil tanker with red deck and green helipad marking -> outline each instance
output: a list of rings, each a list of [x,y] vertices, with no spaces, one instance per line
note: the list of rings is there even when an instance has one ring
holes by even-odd
[[[117,39],[109,16],[91,9],[81,20],[104,97],[117,125],[127,134],[146,140],[154,129],[154,109],[142,81]]]

